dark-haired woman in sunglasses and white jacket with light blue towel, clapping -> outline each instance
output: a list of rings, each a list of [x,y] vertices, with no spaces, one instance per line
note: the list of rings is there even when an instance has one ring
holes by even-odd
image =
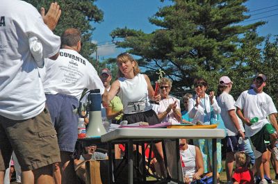
[[[208,83],[204,78],[195,78],[194,87],[196,95],[189,99],[188,113],[189,117],[193,119],[193,124],[199,122],[200,124],[209,125],[217,121],[217,115],[220,114],[221,109],[215,99],[214,92],[206,94]],[[204,160],[204,172],[211,172],[212,163],[212,142],[211,140],[199,139],[193,140],[194,144],[199,147],[202,152]],[[218,158],[218,172],[221,172],[221,143],[217,143],[217,158]],[[208,159],[209,158],[209,159]]]

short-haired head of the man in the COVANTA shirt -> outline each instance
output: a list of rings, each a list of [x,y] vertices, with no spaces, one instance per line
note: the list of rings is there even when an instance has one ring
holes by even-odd
[[[60,39],[62,47],[75,47],[81,40],[81,32],[77,28],[67,28]]]

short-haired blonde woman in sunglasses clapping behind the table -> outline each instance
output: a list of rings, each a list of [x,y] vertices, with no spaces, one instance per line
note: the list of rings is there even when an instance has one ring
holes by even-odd
[[[172,81],[169,78],[161,78],[159,82],[159,94],[161,94],[161,101],[159,106],[156,106],[155,111],[161,123],[171,122],[179,124],[181,122],[181,106],[179,99],[170,97],[169,92],[172,87]]]

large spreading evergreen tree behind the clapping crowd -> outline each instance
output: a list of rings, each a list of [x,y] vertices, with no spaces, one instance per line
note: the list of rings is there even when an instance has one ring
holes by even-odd
[[[242,42],[255,42],[248,49],[256,51],[263,41],[263,37],[250,34],[264,22],[238,24],[250,17],[245,15],[246,1],[172,0],[171,6],[160,8],[149,18],[151,24],[160,27],[153,33],[125,27],[116,28],[111,37],[122,38],[124,42],[117,42],[118,47],[142,57],[139,65],[145,67],[152,81],[157,79],[156,71],[163,69],[176,92],[191,87],[194,78],[200,76],[216,90],[220,76],[229,74],[237,80],[240,73],[235,69],[247,67],[240,60],[243,49],[247,49]]]

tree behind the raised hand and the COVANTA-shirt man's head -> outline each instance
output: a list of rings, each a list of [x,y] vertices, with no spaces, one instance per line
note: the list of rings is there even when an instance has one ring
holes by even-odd
[[[51,3],[51,1],[47,0],[26,0],[26,2],[31,3],[38,8],[39,11],[41,7],[44,7],[46,12]],[[93,62],[92,58],[92,53],[94,53],[97,46],[91,42],[92,31],[95,28],[92,28],[90,22],[101,22],[104,13],[94,5],[94,2],[95,0],[57,0],[62,10],[62,15],[54,33],[56,33],[56,35],[62,35],[66,28],[78,28],[82,34],[81,55],[88,59],[97,69],[100,64],[98,62]]]

